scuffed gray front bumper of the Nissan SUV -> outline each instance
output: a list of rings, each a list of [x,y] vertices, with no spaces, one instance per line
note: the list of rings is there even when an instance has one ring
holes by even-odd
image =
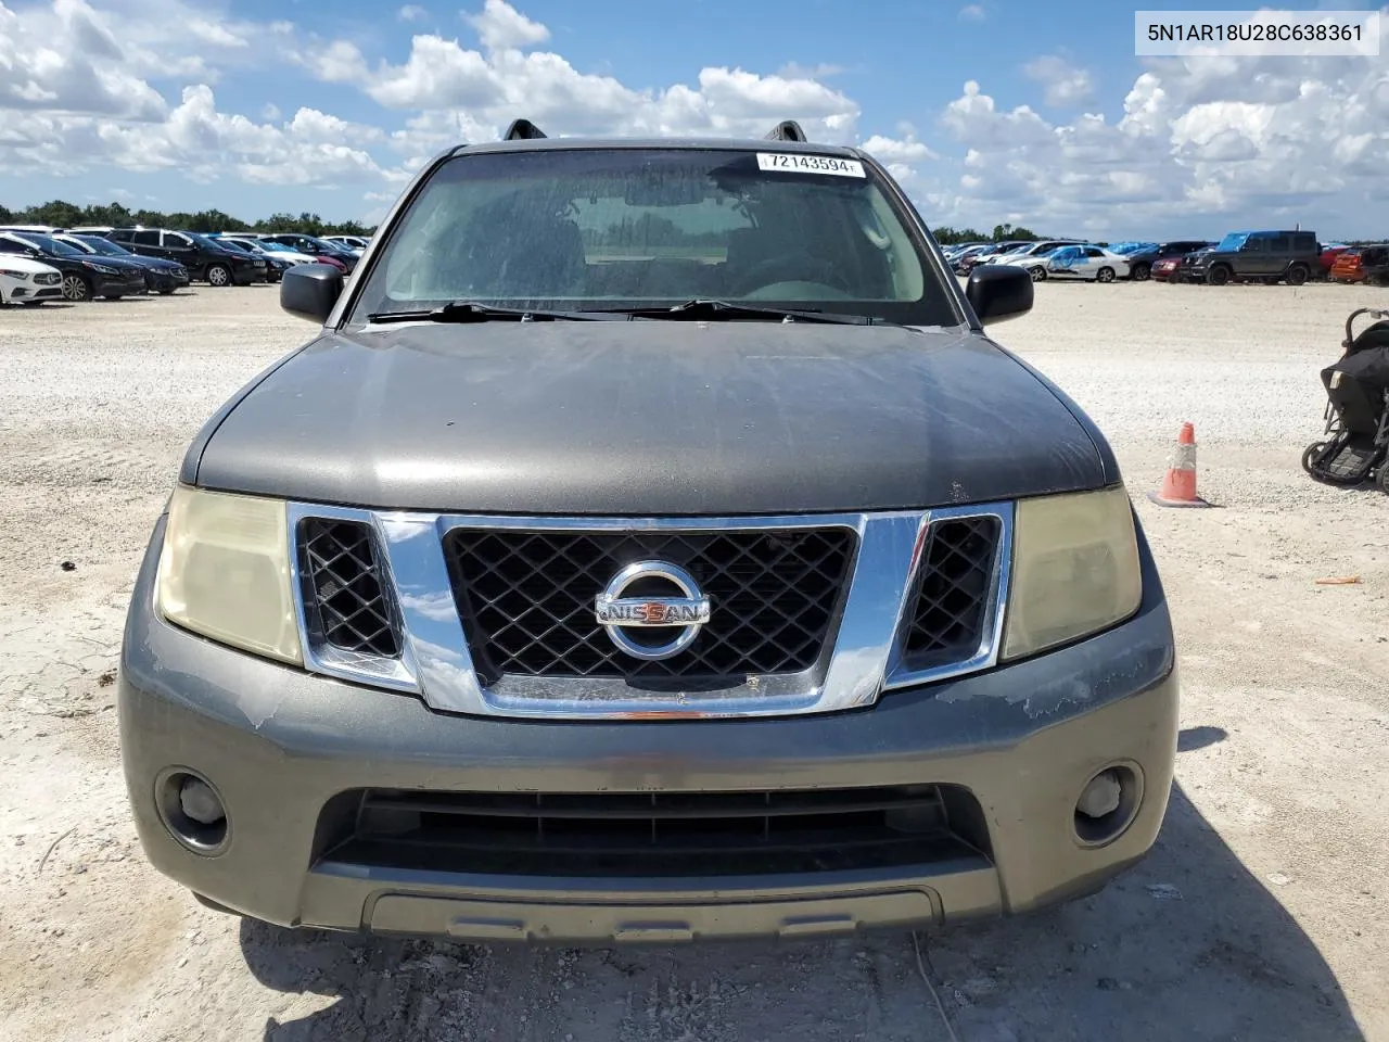
[[[164,520],[126,620],[119,724],[135,821],[153,866],[281,925],[458,939],[681,941],[843,934],[1031,911],[1093,892],[1154,842],[1172,781],[1178,677],[1146,542],[1132,620],[1070,647],[850,713],[722,721],[478,718],[429,710],[243,654],[151,607]],[[1110,764],[1139,779],[1104,845],[1075,803]],[[215,856],[174,838],[157,804],[192,768],[228,809]],[[765,792],[943,785],[968,792],[974,843],[949,859],[782,874],[521,874],[365,863],[333,835],[342,793]],[[338,799],[335,799],[338,797]]]

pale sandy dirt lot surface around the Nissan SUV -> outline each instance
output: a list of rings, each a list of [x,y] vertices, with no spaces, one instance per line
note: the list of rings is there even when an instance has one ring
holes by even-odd
[[[1374,299],[1047,283],[997,326],[1111,438],[1158,554],[1183,732],[1150,859],[1025,921],[615,952],[292,934],[146,867],[113,710],[136,561],[186,440],[311,326],[268,288],[4,310],[0,1036],[1389,1039],[1389,497],[1299,467]],[[1217,510],[1146,499],[1185,420]]]

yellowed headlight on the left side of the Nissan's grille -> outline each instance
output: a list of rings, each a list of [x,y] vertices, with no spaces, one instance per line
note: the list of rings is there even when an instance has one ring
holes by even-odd
[[[168,513],[160,613],[233,647],[301,663],[285,503],[181,485]]]

